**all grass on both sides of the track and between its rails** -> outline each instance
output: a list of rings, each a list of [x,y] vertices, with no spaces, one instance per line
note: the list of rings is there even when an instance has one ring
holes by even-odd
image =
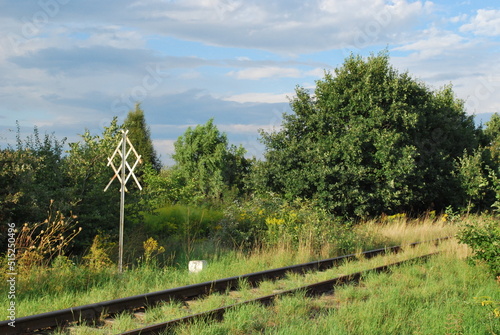
[[[456,224],[439,219],[421,221],[394,220],[384,223],[371,221],[355,227],[355,235],[358,239],[356,246],[359,250],[366,250],[380,246],[405,244],[454,235],[457,230],[458,226]],[[365,245],[363,245],[363,241],[365,241]],[[427,247],[431,248],[430,246]],[[376,327],[375,329],[382,327],[381,329],[387,332],[391,330],[390,327],[395,327],[392,330],[396,330],[396,333],[398,333],[397,327],[402,327],[399,320],[405,320],[408,317],[413,318],[414,321],[412,322],[415,324],[420,319],[427,320],[428,317],[431,318],[426,321],[428,323],[434,320],[432,318],[443,318],[443,320],[448,320],[446,321],[448,324],[445,324],[446,327],[455,327],[456,329],[468,329],[469,324],[472,322],[484,323],[481,329],[485,331],[496,329],[491,328],[493,326],[488,326],[487,307],[477,304],[474,297],[492,296],[499,301],[498,284],[493,279],[488,278],[484,268],[472,267],[465,262],[464,258],[469,251],[463,245],[458,246],[456,243],[448,243],[447,248],[450,250],[447,255],[433,258],[428,263],[403,266],[390,275],[367,276],[360,287],[342,288],[337,291],[334,298],[324,299],[324,304],[321,303],[322,299],[310,301],[299,295],[295,297],[295,301],[293,297],[283,298],[283,301],[288,304],[286,308],[284,305],[280,305],[280,299],[276,306],[281,307],[275,307],[273,313],[264,312],[261,309],[262,307],[258,305],[243,308],[246,312],[242,315],[238,314],[238,310],[232,311],[229,314],[230,318],[226,317],[225,322],[213,326],[215,327],[213,333],[246,334],[248,330],[249,333],[265,331],[272,334],[303,334],[300,330],[304,330],[304,324],[307,324],[307,327],[311,327],[312,330],[320,334],[329,334],[328,329],[336,329],[339,333],[344,334],[364,334],[364,331],[369,327]],[[420,252],[425,251],[420,250]],[[412,252],[416,251],[409,249],[407,257]],[[163,267],[154,263],[150,266],[142,264],[127,269],[123,274],[118,274],[113,267],[92,271],[83,264],[72,264],[70,262],[62,262],[62,265],[57,268],[33,268],[29,273],[18,276],[17,317],[337,256],[335,249],[328,245],[325,245],[319,251],[316,250],[315,253],[308,247],[307,243],[298,246],[283,243],[273,247],[254,248],[250,251],[216,250],[213,246],[210,246],[210,248],[199,249],[198,255],[202,255],[203,259],[207,259],[209,264],[206,270],[198,274],[188,273],[187,264],[184,262]],[[342,267],[320,274],[291,275],[279,283],[262,283],[260,290],[262,293],[297,287],[307,282],[324,280],[342,273],[351,273],[359,271],[363,267],[367,268],[375,266],[374,264],[380,264],[377,262],[383,264],[384,262],[393,261],[397,257],[399,256],[390,255],[385,260],[376,258],[362,263],[350,262]],[[441,263],[438,260],[441,260]],[[397,281],[395,278],[399,278],[400,286],[393,283],[393,280],[394,282]],[[450,283],[446,285],[438,284],[447,283],[448,281]],[[389,287],[384,288],[385,286],[399,288],[389,291]],[[479,287],[481,286],[484,289],[480,290]],[[409,295],[404,294],[407,288],[408,292],[411,293]],[[383,289],[388,291],[383,291]],[[421,292],[420,295],[419,292]],[[240,299],[249,298],[252,294],[254,292],[247,288],[242,290],[239,295],[214,295],[206,301],[199,301],[190,306],[182,307],[176,303],[162,304],[146,313],[145,322],[155,323],[164,320],[165,315],[171,319],[192,312],[220,307]],[[406,298],[403,299],[402,297]],[[1,305],[5,306],[8,303],[6,298],[6,294],[0,297]],[[377,305],[381,309],[378,314],[375,311]],[[295,309],[296,311],[292,312]],[[367,311],[370,311],[370,313]],[[446,311],[446,315],[443,314],[443,311]],[[255,313],[255,315],[252,313]],[[349,321],[352,319],[352,317],[348,316],[350,313],[356,314],[356,322]],[[393,313],[391,315],[394,315],[394,318],[392,316],[387,318],[390,313]],[[231,316],[233,314],[234,316]],[[266,315],[266,317],[264,318],[262,314]],[[422,316],[423,314],[425,314],[425,317]],[[289,315],[292,315],[293,318],[290,319]],[[373,315],[373,318],[370,315]],[[232,320],[232,317],[236,321],[231,321],[228,326],[227,321]],[[284,324],[284,320],[287,319],[290,319],[290,322]],[[384,320],[387,325],[381,326]],[[435,328],[436,332],[425,330],[427,329],[425,328],[420,333],[445,334],[446,332],[440,332],[441,329],[446,329],[443,328],[445,327],[443,323],[438,324],[440,328]],[[128,314],[124,314],[112,326],[107,326],[101,331],[105,334],[116,333],[135,328],[137,325],[137,320],[134,320]],[[202,328],[205,326],[207,325],[203,323],[199,325]],[[192,327],[197,327],[197,324]],[[296,330],[294,330],[295,327]],[[205,328],[206,330],[199,333],[211,334],[210,327]],[[192,334],[198,333],[194,328],[178,329],[181,334],[190,334],[190,331]],[[409,330],[403,329],[401,334],[406,331]],[[92,330],[88,327],[77,327],[75,333],[90,334]],[[407,333],[418,334],[418,332]],[[465,331],[463,333],[467,334]],[[488,334],[488,332],[483,333]],[[369,332],[369,334],[371,333]]]

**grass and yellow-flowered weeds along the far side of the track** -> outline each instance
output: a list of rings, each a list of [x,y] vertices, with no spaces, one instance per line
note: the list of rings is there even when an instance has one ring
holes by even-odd
[[[336,249],[336,242],[313,250],[306,240],[295,245],[260,244],[253,248],[232,250],[214,250],[210,244],[197,243],[191,255],[202,256],[209,266],[206,271],[195,275],[187,271],[190,259],[185,257],[186,250],[178,249],[168,240],[154,238],[141,238],[135,262],[130,263],[134,265],[129,265],[120,274],[111,255],[116,251],[114,245],[99,236],[81,260],[57,256],[49,265],[33,264],[29,271],[20,269],[16,282],[17,316],[310,262],[345,252],[428,240],[443,234],[454,234],[457,229],[456,225],[434,220],[420,223],[399,219],[386,223],[370,222],[353,230],[349,235],[352,248],[344,251]],[[169,258],[174,253],[177,253],[175,258]],[[6,303],[6,299],[7,295],[0,296],[0,304]]]

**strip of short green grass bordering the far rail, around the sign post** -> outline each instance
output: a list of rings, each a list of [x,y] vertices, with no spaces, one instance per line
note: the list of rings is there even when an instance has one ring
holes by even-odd
[[[84,265],[70,264],[60,268],[32,268],[17,277],[17,317],[39,314],[97,301],[164,290],[242,275],[309,261],[313,255],[293,253],[288,249],[258,250],[254,253],[233,250],[206,255],[208,268],[198,274],[189,273],[187,264],[158,267],[139,266],[122,274],[115,267],[92,271]],[[8,304],[7,294],[0,305]]]

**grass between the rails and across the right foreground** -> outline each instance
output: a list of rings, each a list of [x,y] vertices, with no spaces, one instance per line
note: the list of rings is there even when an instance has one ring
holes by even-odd
[[[389,273],[367,274],[360,285],[341,287],[333,296],[312,299],[299,292],[278,299],[271,309],[258,304],[241,306],[228,312],[223,322],[197,321],[179,327],[174,333],[494,334],[498,330],[498,319],[495,320],[488,306],[481,306],[478,298],[489,296],[490,300],[500,301],[498,284],[485,267],[468,264],[465,260],[468,249],[463,245],[448,241],[442,249],[446,250],[444,254],[428,261],[405,264]],[[426,245],[409,248],[404,254],[348,262],[322,273],[290,275],[283,281],[263,282],[258,291],[243,283],[242,290],[237,293],[214,294],[191,302],[189,306],[165,303],[152,308],[146,313],[145,323],[231,305],[276,290],[300,287],[435,250],[436,247]],[[101,331],[114,334],[141,325],[130,315],[122,315],[112,326]],[[476,327],[474,332],[470,330],[473,326]],[[83,334],[86,331],[82,329]],[[80,334],[79,330],[74,334]]]

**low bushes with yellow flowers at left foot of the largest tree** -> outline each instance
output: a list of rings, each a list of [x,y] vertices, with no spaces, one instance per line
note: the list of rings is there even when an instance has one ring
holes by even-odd
[[[354,252],[363,239],[372,240],[354,227],[304,199],[288,202],[268,194],[226,206],[212,238],[228,247],[307,246],[315,253],[342,253]]]

